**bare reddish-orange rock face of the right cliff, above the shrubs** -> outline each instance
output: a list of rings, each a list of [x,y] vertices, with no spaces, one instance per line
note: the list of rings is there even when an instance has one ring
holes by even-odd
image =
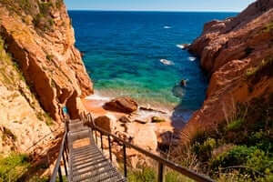
[[[238,102],[272,95],[273,1],[258,0],[234,18],[207,23],[189,51],[200,56],[210,81],[207,99],[182,132],[184,139],[215,128]]]

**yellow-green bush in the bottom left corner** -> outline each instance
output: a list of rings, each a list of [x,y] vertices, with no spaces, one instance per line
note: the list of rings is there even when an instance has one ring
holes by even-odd
[[[29,166],[29,157],[25,154],[0,157],[0,181],[16,181]]]

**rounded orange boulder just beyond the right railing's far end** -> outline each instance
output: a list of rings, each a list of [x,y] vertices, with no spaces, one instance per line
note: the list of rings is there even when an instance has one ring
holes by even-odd
[[[98,116],[94,120],[96,126],[108,131],[113,132],[116,128],[116,121],[111,119],[109,116]]]

